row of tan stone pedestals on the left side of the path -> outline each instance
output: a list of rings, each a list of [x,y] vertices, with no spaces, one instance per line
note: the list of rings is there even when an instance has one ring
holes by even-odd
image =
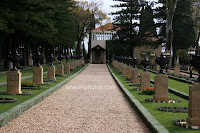
[[[11,62],[13,62],[13,69],[7,73],[7,94],[21,94],[21,72],[20,70],[16,69],[16,61],[14,61],[13,58],[17,58],[17,55],[15,56],[13,54],[11,58]],[[64,58],[63,58],[64,59]],[[62,60],[63,60],[62,59]],[[60,60],[60,64],[57,65],[57,74],[63,75],[65,73],[70,73],[70,70],[74,70],[76,67],[82,65],[83,59],[78,59],[74,61],[70,61],[65,63],[65,65],[62,64],[62,60]],[[35,84],[43,84],[43,67],[38,63],[37,65],[33,67],[33,83]],[[48,76],[47,78],[50,80],[55,80],[55,66],[53,63],[51,63],[48,66]]]

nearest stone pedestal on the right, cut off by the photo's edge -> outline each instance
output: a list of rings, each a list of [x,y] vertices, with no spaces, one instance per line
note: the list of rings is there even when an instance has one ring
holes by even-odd
[[[200,125],[200,82],[193,83],[189,87],[189,105],[187,124]]]

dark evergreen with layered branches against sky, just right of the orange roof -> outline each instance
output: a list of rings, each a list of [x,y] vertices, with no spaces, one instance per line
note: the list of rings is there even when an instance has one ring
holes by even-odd
[[[113,5],[112,7],[122,8],[120,11],[112,12],[112,15],[117,15],[114,18],[114,25],[116,28],[120,27],[117,35],[121,45],[126,45],[129,49],[129,56],[133,56],[133,48],[138,44],[137,41],[137,28],[139,24],[136,20],[139,19],[139,12],[141,5],[138,0],[117,0],[123,3]]]

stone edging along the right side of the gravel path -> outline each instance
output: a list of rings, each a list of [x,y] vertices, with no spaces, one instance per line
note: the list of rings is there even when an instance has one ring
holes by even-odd
[[[139,113],[142,117],[143,121],[147,124],[147,126],[151,129],[152,132],[155,133],[169,133],[167,129],[165,129],[156,119],[153,117],[149,111],[126,89],[126,87],[121,83],[121,81],[116,77],[116,75],[111,70],[110,66],[107,65],[111,75],[119,85],[119,87],[123,90],[123,93],[126,94],[129,102],[134,109]]]

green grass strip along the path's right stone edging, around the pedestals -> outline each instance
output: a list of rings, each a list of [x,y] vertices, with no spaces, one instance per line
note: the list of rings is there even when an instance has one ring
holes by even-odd
[[[153,98],[153,96],[149,95],[140,95],[138,94],[139,91],[134,91],[132,86],[129,86],[129,83],[127,83],[123,77],[119,75],[116,69],[111,67],[112,71],[116,74],[116,76],[120,79],[120,81],[123,83],[123,85],[131,92],[133,96],[170,132],[170,133],[199,133],[199,130],[193,130],[193,129],[185,129],[180,128],[177,126],[172,125],[174,119],[186,119],[188,116],[187,113],[171,113],[171,112],[163,112],[158,111],[158,107],[164,107],[164,106],[177,106],[177,107],[188,107],[188,100],[185,100],[181,97],[178,97],[172,93],[169,93],[169,97],[171,99],[181,99],[181,103],[149,103],[145,102],[146,98]],[[139,69],[139,73],[143,70]],[[151,74],[151,79],[153,79],[153,76],[155,74]],[[179,81],[170,81],[170,87],[173,87],[174,89],[177,89],[176,86],[179,86],[179,84],[183,85],[182,82]],[[186,88],[186,86],[185,86]],[[178,89],[177,89],[178,90]]]

